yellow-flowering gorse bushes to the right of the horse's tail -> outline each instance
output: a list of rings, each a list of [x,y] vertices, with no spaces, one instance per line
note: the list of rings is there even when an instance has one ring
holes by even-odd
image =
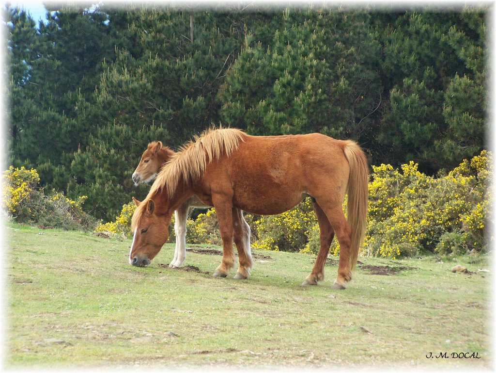
[[[468,251],[486,249],[492,239],[484,231],[492,222],[491,153],[483,151],[439,177],[419,172],[414,162],[404,164],[402,173],[389,165],[373,169],[367,251],[392,257],[421,249],[456,253],[459,245],[448,244],[456,234]]]

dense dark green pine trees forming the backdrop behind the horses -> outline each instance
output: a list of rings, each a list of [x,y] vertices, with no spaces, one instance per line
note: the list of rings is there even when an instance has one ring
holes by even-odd
[[[141,152],[212,124],[352,138],[372,164],[485,147],[486,9],[5,7],[8,161],[113,219]]]

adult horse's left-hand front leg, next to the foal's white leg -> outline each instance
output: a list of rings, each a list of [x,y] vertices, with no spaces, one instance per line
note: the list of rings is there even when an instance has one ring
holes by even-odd
[[[219,230],[224,248],[222,262],[213,276],[227,277],[229,270],[234,266],[232,202],[226,198],[216,198],[214,196],[212,196],[212,202],[219,221]]]

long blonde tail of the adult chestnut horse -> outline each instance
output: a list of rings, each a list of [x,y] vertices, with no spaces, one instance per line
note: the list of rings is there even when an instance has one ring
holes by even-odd
[[[365,239],[369,208],[369,166],[364,151],[354,141],[347,140],[344,155],[350,163],[348,178],[348,224],[351,227],[350,270],[357,264],[358,250]]]

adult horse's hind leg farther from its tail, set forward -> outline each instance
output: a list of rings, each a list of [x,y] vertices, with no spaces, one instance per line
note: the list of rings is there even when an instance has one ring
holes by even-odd
[[[331,246],[332,239],[334,238],[334,229],[332,229],[327,216],[315,200],[312,200],[312,202],[320,230],[320,249],[318,250],[317,259],[315,260],[313,269],[302,285],[317,285],[319,281],[324,280],[324,265],[329,253],[329,247]]]

